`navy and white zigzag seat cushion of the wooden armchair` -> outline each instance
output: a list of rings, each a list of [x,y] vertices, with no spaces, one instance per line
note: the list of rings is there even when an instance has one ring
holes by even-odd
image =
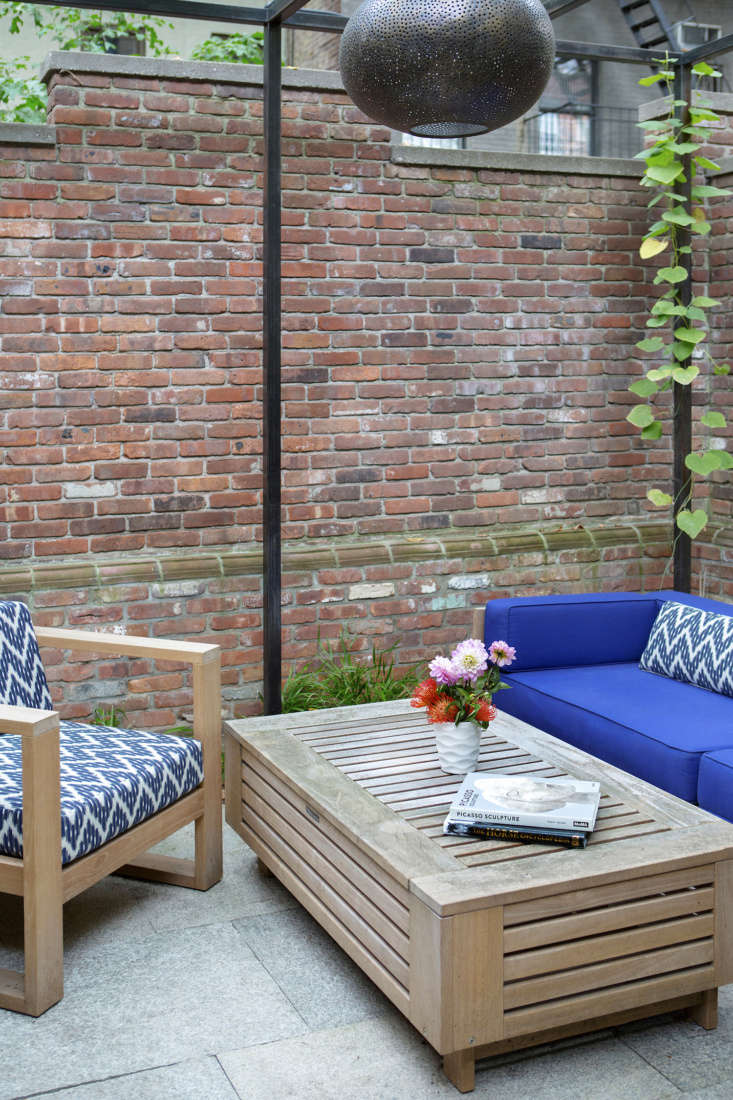
[[[138,729],[61,724],[62,862],[152,817],[204,778],[201,745]],[[21,738],[0,737],[0,853],[23,855]]]

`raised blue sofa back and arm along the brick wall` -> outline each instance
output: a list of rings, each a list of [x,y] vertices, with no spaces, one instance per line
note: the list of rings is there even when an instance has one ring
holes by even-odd
[[[733,614],[730,604],[674,591],[522,596],[486,604],[484,641],[501,638],[515,647],[512,672],[638,661],[667,600]]]

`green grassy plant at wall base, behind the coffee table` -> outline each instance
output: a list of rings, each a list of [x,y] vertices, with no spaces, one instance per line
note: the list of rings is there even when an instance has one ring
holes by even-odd
[[[361,658],[357,644],[347,630],[337,647],[319,639],[314,659],[297,671],[292,669],[283,684],[283,713],[408,698],[417,672],[415,668],[396,670],[393,653],[397,642],[381,652],[372,646],[371,654]]]

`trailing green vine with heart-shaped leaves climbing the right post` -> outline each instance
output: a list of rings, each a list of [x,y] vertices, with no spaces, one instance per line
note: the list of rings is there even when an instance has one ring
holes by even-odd
[[[666,287],[652,307],[646,321],[649,329],[658,329],[655,336],[639,340],[636,346],[642,352],[653,354],[657,365],[647,370],[645,376],[634,382],[630,389],[643,402],[635,405],[627,420],[641,429],[642,438],[657,440],[663,435],[663,425],[655,416],[655,400],[658,395],[670,389],[674,383],[690,386],[700,374],[701,365],[707,365],[715,375],[729,374],[727,363],[715,363],[705,344],[708,338],[708,311],[720,302],[707,295],[691,296],[686,300],[683,287],[687,268],[683,257],[692,252],[688,234],[705,237],[710,233],[710,222],[704,211],[704,200],[732,193],[711,184],[697,183],[698,170],[714,173],[720,166],[700,152],[711,136],[711,122],[719,116],[709,103],[698,96],[688,105],[676,99],[674,94],[675,61],[666,57],[659,62],[661,68],[653,76],[644,77],[644,87],[661,84],[670,98],[669,113],[665,119],[639,122],[650,138],[649,145],[637,156],[646,162],[642,185],[656,190],[648,207],[660,207],[660,217],[649,228],[639,248],[642,260],[649,260],[668,252],[666,266],[657,271],[654,283]],[[694,65],[692,73],[699,77],[718,77],[721,74],[705,62]],[[688,110],[689,107],[689,110]],[[691,167],[688,169],[688,165]],[[692,177],[688,177],[688,173]],[[659,361],[661,358],[661,362]],[[701,422],[710,428],[725,428],[722,413],[708,409]],[[657,507],[672,507],[677,527],[690,538],[696,538],[708,522],[708,513],[693,507],[694,477],[708,477],[715,470],[733,469],[733,457],[722,448],[711,447],[692,451],[685,459],[689,471],[680,499],[668,493],[650,488],[647,497]]]

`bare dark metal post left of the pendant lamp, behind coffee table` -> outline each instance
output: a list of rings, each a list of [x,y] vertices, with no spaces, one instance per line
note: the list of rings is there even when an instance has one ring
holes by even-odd
[[[262,610],[264,712],[282,710],[281,534],[281,131],[282,24],[264,28],[262,195]]]

